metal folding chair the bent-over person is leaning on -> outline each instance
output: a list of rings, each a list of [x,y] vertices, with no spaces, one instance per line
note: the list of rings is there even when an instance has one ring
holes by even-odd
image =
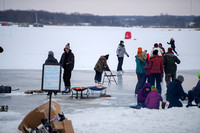
[[[115,76],[114,74],[112,74],[112,72],[110,70],[104,70],[104,76],[103,76],[103,82],[108,82],[108,84],[110,84],[111,82],[115,82],[117,84],[117,81],[115,80]],[[105,78],[107,78],[107,80],[105,80]]]

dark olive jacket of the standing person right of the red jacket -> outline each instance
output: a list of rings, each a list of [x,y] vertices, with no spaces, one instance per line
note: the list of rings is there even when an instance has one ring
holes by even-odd
[[[180,64],[180,60],[173,52],[167,52],[163,57],[164,71],[166,74],[176,73],[177,64]]]

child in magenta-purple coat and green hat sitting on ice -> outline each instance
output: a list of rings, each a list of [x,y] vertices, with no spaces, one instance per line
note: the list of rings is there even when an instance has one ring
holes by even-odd
[[[162,96],[157,92],[156,87],[152,86],[151,92],[149,92],[145,100],[146,107],[149,109],[159,109],[160,101],[163,101]]]

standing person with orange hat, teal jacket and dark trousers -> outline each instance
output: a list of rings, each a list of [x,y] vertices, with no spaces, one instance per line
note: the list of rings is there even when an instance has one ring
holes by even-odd
[[[138,91],[142,88],[142,86],[145,83],[145,74],[146,70],[144,67],[146,66],[146,58],[143,55],[142,48],[139,47],[137,51],[137,55],[135,56],[135,62],[136,62],[136,74],[137,74],[137,84],[135,87],[135,94],[138,93]]]

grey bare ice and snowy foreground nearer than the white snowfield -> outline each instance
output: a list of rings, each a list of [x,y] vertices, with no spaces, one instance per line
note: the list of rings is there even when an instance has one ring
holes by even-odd
[[[196,85],[196,74],[199,71],[178,71],[178,74],[185,77],[183,87],[186,92],[191,89],[191,86]],[[114,71],[114,73],[116,72]],[[48,101],[46,93],[24,94],[26,90],[41,88],[42,70],[0,70],[0,75],[0,85],[12,86],[12,89],[19,88],[19,91],[13,91],[11,94],[0,94],[0,104],[9,105],[8,112],[0,112],[0,132],[20,132],[17,127],[23,118],[31,110]],[[93,78],[94,71],[75,70],[72,74],[72,87],[95,85]],[[183,107],[166,111],[130,109],[130,105],[136,104],[134,95],[136,74],[134,71],[127,71],[122,76],[117,76],[116,80],[118,85],[114,82],[110,86],[107,83],[104,84],[108,86],[107,94],[112,96],[110,98],[100,98],[96,94],[89,96],[89,98],[74,99],[71,98],[70,94],[58,94],[57,96],[53,95],[52,99],[60,104],[61,111],[68,119],[72,120],[74,130],[77,133],[99,133],[102,131],[106,133],[132,133],[133,130],[137,132],[167,133],[170,130],[170,132],[187,133],[191,131],[198,133],[200,130],[198,124],[200,122],[199,108]],[[165,82],[162,83],[162,87],[165,101]],[[185,106],[186,102],[183,104]],[[185,120],[184,115],[189,117],[188,120]],[[153,124],[148,124],[148,128],[142,128],[145,121]],[[115,127],[116,123],[119,124],[119,129]]]

